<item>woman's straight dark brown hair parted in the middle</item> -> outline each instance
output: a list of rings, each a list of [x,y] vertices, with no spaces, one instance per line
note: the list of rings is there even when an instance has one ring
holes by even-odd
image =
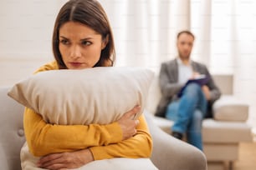
[[[66,69],[59,52],[59,28],[69,21],[78,22],[100,33],[107,45],[100,53],[100,60],[94,67],[113,66],[115,62],[115,44],[109,20],[100,2],[96,0],[69,0],[61,7],[54,24],[53,52],[60,69]]]

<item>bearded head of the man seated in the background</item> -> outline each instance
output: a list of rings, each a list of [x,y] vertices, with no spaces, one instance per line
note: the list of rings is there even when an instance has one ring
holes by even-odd
[[[177,50],[182,60],[187,60],[192,52],[194,35],[190,31],[182,31],[177,34]]]

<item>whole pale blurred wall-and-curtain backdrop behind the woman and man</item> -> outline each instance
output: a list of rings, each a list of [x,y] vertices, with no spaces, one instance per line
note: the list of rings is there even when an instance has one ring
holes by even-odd
[[[54,59],[54,20],[66,0],[0,1],[0,86],[28,77]],[[115,36],[115,66],[149,67],[177,57],[176,36],[195,36],[192,59],[212,74],[230,74],[234,95],[250,105],[256,133],[256,1],[100,0]]]

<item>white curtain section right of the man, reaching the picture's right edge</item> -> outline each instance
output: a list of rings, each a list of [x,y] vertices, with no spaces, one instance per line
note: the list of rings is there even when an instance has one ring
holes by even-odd
[[[194,56],[218,74],[233,74],[234,95],[250,106],[248,123],[256,133],[256,2],[191,1]],[[197,55],[198,54],[198,55]]]

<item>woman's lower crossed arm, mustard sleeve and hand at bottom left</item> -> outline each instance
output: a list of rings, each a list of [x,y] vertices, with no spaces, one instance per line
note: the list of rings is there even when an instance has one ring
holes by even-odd
[[[152,139],[143,115],[134,137],[108,146],[92,147],[72,153],[54,153],[41,158],[38,167],[48,169],[79,168],[94,160],[106,158],[149,158]]]

